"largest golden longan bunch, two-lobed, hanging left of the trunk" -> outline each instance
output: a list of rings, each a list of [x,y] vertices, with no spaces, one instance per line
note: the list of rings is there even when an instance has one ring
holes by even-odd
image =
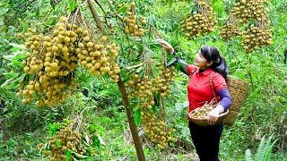
[[[52,34],[36,34],[35,30],[18,34],[29,49],[23,65],[24,72],[32,78],[18,92],[18,96],[24,97],[22,103],[30,103],[33,99],[37,100],[36,106],[61,103],[75,85],[73,72],[78,61],[92,74],[108,73],[118,81],[117,45],[110,43],[106,36],[96,41],[89,26],[80,27],[81,21],[74,23],[76,17],[82,16],[72,15],[69,21],[73,22],[61,17]]]

